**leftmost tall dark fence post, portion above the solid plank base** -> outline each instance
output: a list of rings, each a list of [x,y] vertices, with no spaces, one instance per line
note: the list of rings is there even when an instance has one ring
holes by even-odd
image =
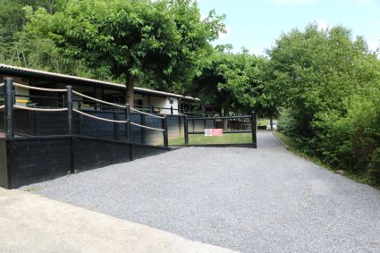
[[[14,105],[14,92],[13,92],[13,79],[5,78],[4,79],[4,88],[5,88],[5,137],[14,137],[14,114],[13,114],[13,105]]]

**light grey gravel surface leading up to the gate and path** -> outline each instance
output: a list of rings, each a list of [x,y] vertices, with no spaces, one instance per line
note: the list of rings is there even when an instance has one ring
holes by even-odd
[[[24,187],[244,252],[380,252],[380,192],[294,156],[269,132],[258,149],[182,148]]]

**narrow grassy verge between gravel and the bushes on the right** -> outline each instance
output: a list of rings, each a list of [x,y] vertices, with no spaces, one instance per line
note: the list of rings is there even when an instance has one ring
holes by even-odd
[[[283,132],[276,131],[276,132],[274,132],[274,134],[279,139],[281,139],[283,141],[283,143],[285,144],[286,148],[288,150],[290,150],[292,153],[294,153],[295,155],[301,156],[305,159],[308,159],[309,161],[313,162],[314,164],[317,164],[317,165],[319,165],[319,166],[321,166],[321,167],[323,167],[329,171],[332,171],[332,172],[337,171],[336,168],[332,167],[329,164],[325,164],[323,161],[321,161],[317,157],[309,156],[308,154],[306,154],[302,150],[302,146],[300,145],[300,143],[298,143],[294,139],[291,139],[291,137],[285,135]],[[344,176],[349,178],[350,180],[358,181],[358,182],[364,183],[364,184],[368,184],[368,185],[375,187],[377,190],[380,190],[380,185],[375,185],[374,183],[372,183],[371,180],[369,179],[367,173],[358,174],[358,173],[351,173],[350,171],[344,171]]]

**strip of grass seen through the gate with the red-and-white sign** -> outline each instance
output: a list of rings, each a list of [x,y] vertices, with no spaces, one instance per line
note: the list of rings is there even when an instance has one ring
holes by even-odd
[[[249,132],[244,133],[224,133],[223,136],[205,136],[204,134],[190,134],[190,145],[203,145],[203,144],[241,144],[252,143],[252,134]],[[185,139],[170,139],[169,146],[171,145],[184,145]]]

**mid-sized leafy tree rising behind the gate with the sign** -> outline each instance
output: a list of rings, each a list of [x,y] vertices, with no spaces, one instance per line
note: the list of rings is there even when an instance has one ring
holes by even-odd
[[[224,116],[246,113],[257,106],[260,58],[247,50],[232,53],[232,46],[216,46],[211,64],[194,80],[190,93],[206,105],[215,105]],[[225,126],[226,127],[226,126]]]

